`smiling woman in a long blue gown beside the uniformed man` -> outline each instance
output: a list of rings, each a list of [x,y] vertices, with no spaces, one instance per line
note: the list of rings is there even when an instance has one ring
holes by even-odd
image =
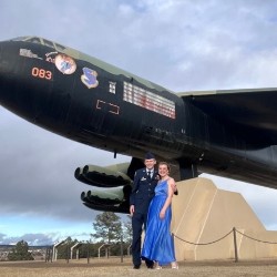
[[[155,196],[148,208],[147,228],[145,233],[142,257],[156,261],[156,268],[171,264],[177,269],[174,242],[171,235],[172,197],[176,189],[175,181],[168,176],[170,166],[165,162],[158,164],[161,176],[155,188]]]

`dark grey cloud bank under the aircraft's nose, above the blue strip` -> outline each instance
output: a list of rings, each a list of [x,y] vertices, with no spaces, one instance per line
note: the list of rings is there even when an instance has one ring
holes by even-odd
[[[4,111],[2,111],[4,113]],[[1,213],[28,213],[82,220],[89,211],[80,194],[89,187],[74,178],[78,166],[107,165],[112,153],[95,151],[18,119],[4,129],[0,144]],[[127,161],[127,158],[125,158]],[[59,209],[60,213],[55,213]]]

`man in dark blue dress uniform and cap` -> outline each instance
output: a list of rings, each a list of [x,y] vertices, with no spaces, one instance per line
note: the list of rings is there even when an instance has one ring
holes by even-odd
[[[146,228],[148,206],[155,195],[155,187],[158,181],[158,173],[154,168],[155,156],[148,152],[144,158],[145,167],[135,172],[133,189],[130,196],[130,214],[132,216],[132,255],[134,269],[140,269],[142,229]],[[145,259],[147,268],[153,268],[154,261]]]

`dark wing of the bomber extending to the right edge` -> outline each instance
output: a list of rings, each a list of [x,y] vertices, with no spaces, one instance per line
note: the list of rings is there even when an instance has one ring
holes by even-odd
[[[178,93],[257,148],[277,145],[277,88]]]

